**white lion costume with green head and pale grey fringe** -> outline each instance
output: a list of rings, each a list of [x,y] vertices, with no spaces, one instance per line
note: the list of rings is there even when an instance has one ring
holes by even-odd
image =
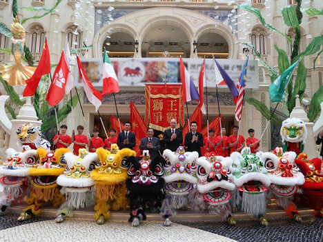
[[[250,148],[242,149],[231,154],[233,165],[233,183],[237,186],[232,203],[233,208],[242,210],[246,214],[253,214],[260,220],[261,225],[268,225],[263,215],[266,213],[265,192],[271,185],[267,176],[264,163],[256,154],[251,153]]]

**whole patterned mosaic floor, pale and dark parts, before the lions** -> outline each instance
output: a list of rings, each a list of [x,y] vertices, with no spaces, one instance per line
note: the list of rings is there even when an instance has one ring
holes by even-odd
[[[235,226],[216,221],[177,222],[171,228],[160,221],[146,221],[139,228],[132,228],[126,221],[97,225],[92,220],[68,219],[57,224],[54,218],[46,216],[20,223],[18,215],[0,217],[0,241],[323,241],[323,219],[315,216],[303,216],[302,223],[271,219],[268,227],[241,220]]]

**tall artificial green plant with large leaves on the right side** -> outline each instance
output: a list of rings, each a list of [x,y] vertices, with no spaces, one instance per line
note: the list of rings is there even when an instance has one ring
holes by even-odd
[[[286,54],[286,51],[278,48],[278,46],[275,44],[275,50],[277,50],[278,52],[279,74],[282,74],[284,70],[286,70],[289,66],[293,65],[293,63],[297,61],[297,59],[299,59],[300,57],[306,57],[318,52],[316,58],[313,61],[313,65],[315,68],[315,61],[317,60],[317,57],[323,52],[322,50],[323,36],[320,36],[320,37],[313,38],[313,40],[311,41],[311,43],[309,43],[309,45],[306,47],[304,52],[300,53],[300,40],[302,37],[300,25],[302,23],[303,14],[309,14],[311,16],[322,15],[323,10],[317,10],[315,8],[302,9],[301,8],[302,0],[296,0],[296,2],[297,2],[297,5],[295,7],[286,6],[281,10],[282,17],[284,19],[284,23],[286,24],[286,26],[289,26],[295,30],[294,41],[292,41],[291,38],[287,37],[286,34],[280,32],[279,30],[273,28],[273,26],[271,26],[270,24],[266,23],[266,21],[262,17],[262,14],[260,13],[260,10],[257,10],[257,8],[252,8],[251,6],[248,6],[248,5],[237,4],[238,8],[241,8],[242,10],[246,10],[248,12],[253,13],[260,20],[260,23],[262,23],[262,25],[266,27],[268,30],[282,34],[282,36],[284,36],[287,39],[287,41],[292,43],[293,52],[291,53],[291,56],[289,58],[288,58],[288,55]],[[249,48],[254,50],[260,62],[268,70],[268,73],[271,77],[271,83],[273,83],[273,81],[275,81],[275,79],[277,79],[279,75],[278,72],[275,70],[275,68],[267,65],[267,63],[262,59],[260,53],[257,52],[257,50],[255,50],[255,47],[253,45],[251,45],[250,43],[241,43],[241,44],[248,46]],[[291,79],[291,81],[288,83],[288,86],[286,88],[286,94],[285,94],[286,99],[285,101],[282,101],[282,103],[285,105],[286,109],[288,110],[289,114],[291,114],[291,112],[293,111],[293,108],[295,108],[296,95],[299,95],[301,100],[304,97],[304,92],[306,90],[306,76],[307,76],[307,69],[304,66],[304,60],[302,60],[298,64],[297,73],[294,74],[294,78]],[[323,92],[321,87],[313,95],[313,98],[311,100],[311,105],[308,113],[308,118],[310,121],[315,121],[318,114],[320,114],[321,112],[320,103],[322,103],[322,101],[323,101]],[[257,110],[262,110],[261,102],[255,102],[253,99],[246,99],[246,102],[251,105],[254,105]],[[262,114],[264,117],[268,119],[268,115],[264,115],[263,112]],[[274,119],[277,118],[275,114],[273,115],[273,118]]]

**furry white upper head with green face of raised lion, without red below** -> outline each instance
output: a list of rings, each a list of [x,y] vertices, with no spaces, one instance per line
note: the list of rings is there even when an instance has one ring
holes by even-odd
[[[298,143],[302,141],[305,143],[307,138],[306,125],[301,119],[286,119],[282,122],[280,135],[282,136],[282,142]]]

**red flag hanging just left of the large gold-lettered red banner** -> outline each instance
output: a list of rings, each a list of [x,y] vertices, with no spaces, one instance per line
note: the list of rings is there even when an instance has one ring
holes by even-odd
[[[130,123],[131,131],[136,135],[136,146],[133,150],[137,152],[137,156],[140,156],[141,150],[139,145],[141,143],[141,139],[147,136],[147,130],[144,119],[140,116],[135,104],[133,104],[133,101],[130,103]]]

